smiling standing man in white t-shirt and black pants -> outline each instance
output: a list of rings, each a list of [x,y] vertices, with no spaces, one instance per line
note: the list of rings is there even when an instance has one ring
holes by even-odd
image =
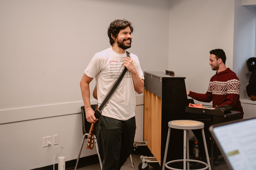
[[[84,101],[86,119],[96,123],[97,142],[102,161],[102,170],[120,170],[132,151],[135,123],[135,91],[143,92],[144,75],[135,54],[126,57],[126,49],[132,43],[132,23],[114,20],[108,27],[109,42],[112,47],[96,53],[84,71],[80,87]],[[124,69],[123,80],[96,119],[90,104],[89,84],[96,78],[98,105],[108,94],[112,85]]]

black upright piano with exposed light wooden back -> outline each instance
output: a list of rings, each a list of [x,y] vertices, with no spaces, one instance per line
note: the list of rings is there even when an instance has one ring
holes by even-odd
[[[144,72],[144,140],[162,167],[168,122],[185,119],[188,106],[185,77]],[[166,162],[183,158],[183,131],[172,130]]]

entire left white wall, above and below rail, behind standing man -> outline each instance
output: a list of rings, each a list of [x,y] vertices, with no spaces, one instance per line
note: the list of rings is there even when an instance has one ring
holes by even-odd
[[[142,70],[167,69],[169,0],[0,1],[0,169],[52,165],[60,149],[43,148],[42,138],[55,134],[60,156],[77,158],[79,82],[93,55],[110,47],[109,23],[123,18],[133,23],[129,51]],[[136,98],[135,140],[142,141],[143,94]],[[95,153],[84,149],[81,157]]]

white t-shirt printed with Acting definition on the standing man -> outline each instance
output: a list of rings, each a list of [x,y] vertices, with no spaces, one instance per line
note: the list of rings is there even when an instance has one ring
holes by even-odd
[[[96,53],[91,59],[84,73],[91,78],[96,77],[98,105],[100,105],[112,88],[114,82],[124,69],[123,63],[126,54],[117,54],[112,47]],[[139,59],[135,54],[130,54],[140,78],[144,79],[140,68]],[[123,80],[110,98],[102,111],[103,116],[118,120],[128,120],[135,116],[135,90],[132,73],[127,70]]]

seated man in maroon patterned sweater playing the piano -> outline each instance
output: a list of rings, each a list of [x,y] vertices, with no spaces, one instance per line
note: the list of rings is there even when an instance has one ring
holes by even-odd
[[[232,120],[242,119],[244,115],[241,102],[239,100],[240,81],[232,70],[226,67],[226,55],[222,49],[210,51],[210,62],[212,70],[217,70],[212,76],[207,92],[205,94],[195,93],[187,90],[187,95],[195,100],[211,102],[212,107],[217,105],[229,105],[233,111],[241,112],[238,116],[231,117]]]

